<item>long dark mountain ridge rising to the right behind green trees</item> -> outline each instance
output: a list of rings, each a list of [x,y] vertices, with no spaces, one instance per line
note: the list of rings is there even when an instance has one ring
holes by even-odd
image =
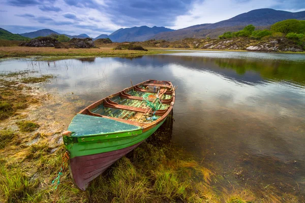
[[[266,28],[276,22],[286,19],[304,19],[305,11],[288,12],[274,9],[257,9],[242,13],[228,20],[217,23],[194,25],[171,32],[161,32],[150,39],[175,41],[183,38],[217,38],[225,31],[238,31],[249,24]]]

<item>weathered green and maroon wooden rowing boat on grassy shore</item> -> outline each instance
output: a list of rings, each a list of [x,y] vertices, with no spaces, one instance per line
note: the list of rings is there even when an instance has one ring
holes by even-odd
[[[171,82],[147,80],[81,110],[63,133],[74,185],[85,190],[90,181],[138,147],[162,125],[174,102]]]

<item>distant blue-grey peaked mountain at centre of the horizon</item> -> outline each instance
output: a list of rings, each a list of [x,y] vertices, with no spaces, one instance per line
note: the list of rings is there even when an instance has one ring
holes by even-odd
[[[120,28],[108,37],[112,42],[143,42],[155,36],[159,32],[174,31],[166,27],[131,27],[131,28]]]

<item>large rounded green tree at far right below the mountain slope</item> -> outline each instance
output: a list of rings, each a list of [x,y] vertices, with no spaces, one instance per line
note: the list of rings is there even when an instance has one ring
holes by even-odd
[[[288,19],[271,25],[271,30],[287,35],[289,32],[300,33],[301,27],[302,23],[299,20]]]

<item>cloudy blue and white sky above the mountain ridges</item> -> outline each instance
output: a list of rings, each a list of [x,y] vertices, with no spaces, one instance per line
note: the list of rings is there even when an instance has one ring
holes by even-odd
[[[109,35],[147,25],[180,29],[215,23],[254,9],[298,12],[304,0],[0,0],[0,27],[13,33],[52,29],[67,35]]]

